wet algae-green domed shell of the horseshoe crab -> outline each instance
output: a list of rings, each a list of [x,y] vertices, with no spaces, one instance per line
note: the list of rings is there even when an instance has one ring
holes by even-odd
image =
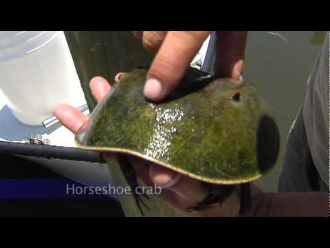
[[[125,74],[76,134],[82,149],[132,154],[208,183],[247,183],[279,151],[270,106],[252,85],[189,68],[161,103],[144,97],[147,70]]]

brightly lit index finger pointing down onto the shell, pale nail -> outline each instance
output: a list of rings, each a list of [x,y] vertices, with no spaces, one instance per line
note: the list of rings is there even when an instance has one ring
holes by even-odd
[[[144,95],[148,99],[161,101],[174,90],[208,34],[206,31],[171,31],[166,34],[144,86]]]

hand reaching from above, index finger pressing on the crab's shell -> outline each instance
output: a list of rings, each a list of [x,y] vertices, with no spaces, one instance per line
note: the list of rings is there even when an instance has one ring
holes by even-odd
[[[157,52],[148,71],[144,95],[161,101],[179,84],[209,31],[133,31],[146,50]],[[217,31],[214,73],[240,79],[248,32]]]

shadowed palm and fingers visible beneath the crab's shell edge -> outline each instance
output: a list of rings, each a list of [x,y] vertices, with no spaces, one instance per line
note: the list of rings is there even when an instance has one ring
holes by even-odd
[[[207,192],[203,189],[201,181],[181,176],[170,169],[155,165],[136,156],[128,156],[129,162],[137,174],[137,180],[148,186],[162,187],[160,198],[166,201],[170,207],[187,216],[236,216],[239,211],[236,194],[230,196],[219,207],[210,207],[201,211],[187,212],[188,207],[194,207],[205,199]],[[179,176],[178,176],[179,175]],[[138,180],[138,181],[140,181]]]

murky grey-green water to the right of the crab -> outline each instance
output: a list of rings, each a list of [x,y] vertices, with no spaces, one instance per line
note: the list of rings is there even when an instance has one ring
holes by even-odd
[[[269,32],[249,32],[243,77],[254,83],[265,100],[274,107],[281,135],[281,152],[273,172],[257,180],[256,185],[267,192],[276,192],[287,132],[303,101],[307,79],[322,48],[325,32]]]

